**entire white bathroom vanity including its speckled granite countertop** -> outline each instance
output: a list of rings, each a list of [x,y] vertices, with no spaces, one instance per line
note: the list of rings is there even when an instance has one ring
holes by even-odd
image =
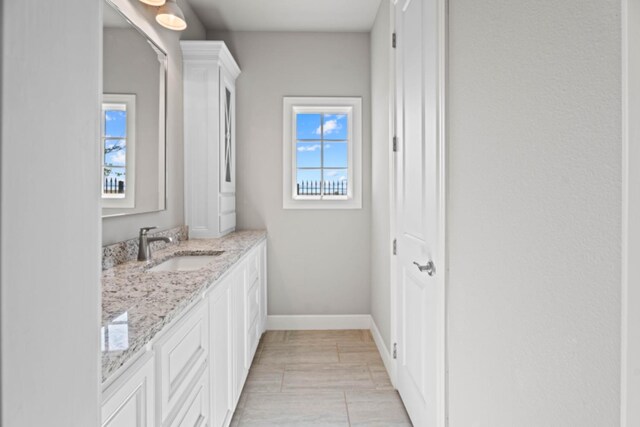
[[[103,264],[102,426],[229,425],[266,327],[266,232],[180,240],[148,263],[131,246]]]

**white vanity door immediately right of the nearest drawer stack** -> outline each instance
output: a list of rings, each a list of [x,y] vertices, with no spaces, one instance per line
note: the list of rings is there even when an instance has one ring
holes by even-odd
[[[230,280],[224,279],[209,296],[211,316],[211,427],[226,425],[232,414],[232,293]]]

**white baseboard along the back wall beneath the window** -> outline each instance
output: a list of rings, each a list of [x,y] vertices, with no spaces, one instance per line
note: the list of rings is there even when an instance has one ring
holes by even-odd
[[[371,316],[368,314],[267,316],[269,331],[370,328]]]

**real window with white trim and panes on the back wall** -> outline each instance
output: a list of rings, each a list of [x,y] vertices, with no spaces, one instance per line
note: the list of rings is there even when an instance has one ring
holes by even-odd
[[[362,207],[362,100],[284,98],[283,208]]]

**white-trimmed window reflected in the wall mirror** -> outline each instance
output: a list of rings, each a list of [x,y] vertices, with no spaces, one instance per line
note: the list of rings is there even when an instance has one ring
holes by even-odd
[[[102,206],[133,208],[135,95],[103,95]]]

